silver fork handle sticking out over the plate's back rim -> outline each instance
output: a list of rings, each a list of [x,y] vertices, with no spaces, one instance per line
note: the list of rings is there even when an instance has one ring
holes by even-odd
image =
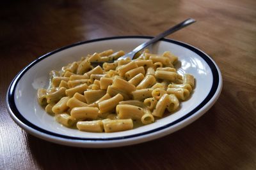
[[[134,55],[135,55],[136,53],[140,52],[140,50],[147,47],[148,45],[151,45],[152,43],[155,43],[159,39],[164,38],[165,36],[168,36],[169,34],[172,34],[173,32],[178,31],[179,29],[182,29],[190,24],[193,24],[194,22],[196,22],[196,20],[194,20],[193,18],[188,18],[188,19],[184,20],[183,22],[180,22],[180,24],[177,24],[177,25],[171,27],[170,29],[162,32],[161,34],[150,39],[149,41],[137,46],[136,48],[134,48],[134,50],[132,50],[132,53],[134,53]],[[131,59],[134,57],[134,55],[131,56]]]

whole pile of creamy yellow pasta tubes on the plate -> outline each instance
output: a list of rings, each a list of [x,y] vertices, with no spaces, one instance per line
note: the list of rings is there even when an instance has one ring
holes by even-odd
[[[177,73],[173,64],[178,58],[171,52],[156,55],[144,50],[134,60],[116,60],[124,54],[93,53],[51,71],[49,88],[38,89],[38,103],[66,127],[117,132],[177,111],[194,89],[193,75]],[[93,61],[104,64],[93,67]]]

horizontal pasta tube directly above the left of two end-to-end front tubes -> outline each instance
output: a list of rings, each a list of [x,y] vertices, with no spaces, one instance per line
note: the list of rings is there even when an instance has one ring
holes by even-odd
[[[77,107],[72,108],[70,115],[73,118],[79,119],[79,120],[95,120],[98,117],[99,109],[98,108],[92,108],[92,107]]]

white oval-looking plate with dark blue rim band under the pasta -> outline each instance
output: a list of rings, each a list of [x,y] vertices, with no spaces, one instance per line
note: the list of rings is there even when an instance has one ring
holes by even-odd
[[[171,51],[182,63],[179,73],[190,73],[195,76],[196,87],[188,101],[181,103],[180,110],[172,115],[124,132],[93,133],[68,129],[58,124],[54,117],[45,113],[36,101],[36,91],[47,88],[49,72],[60,70],[61,66],[79,60],[89,53],[113,49],[114,51],[131,51],[151,37],[125,36],[93,39],[65,46],[47,53],[31,62],[13,79],[6,95],[6,103],[13,120],[30,134],[61,145],[88,148],[104,148],[132,145],[160,138],[201,117],[220,96],[222,78],[220,69],[214,61],[197,48],[163,39],[148,47],[152,53]]]

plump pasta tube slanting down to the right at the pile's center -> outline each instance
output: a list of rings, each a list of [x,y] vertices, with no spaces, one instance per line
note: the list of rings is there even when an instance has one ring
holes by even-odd
[[[128,81],[125,81],[119,77],[114,78],[113,87],[122,89],[127,93],[131,93],[136,90],[136,87],[134,85],[132,85],[132,83],[129,83]]]

